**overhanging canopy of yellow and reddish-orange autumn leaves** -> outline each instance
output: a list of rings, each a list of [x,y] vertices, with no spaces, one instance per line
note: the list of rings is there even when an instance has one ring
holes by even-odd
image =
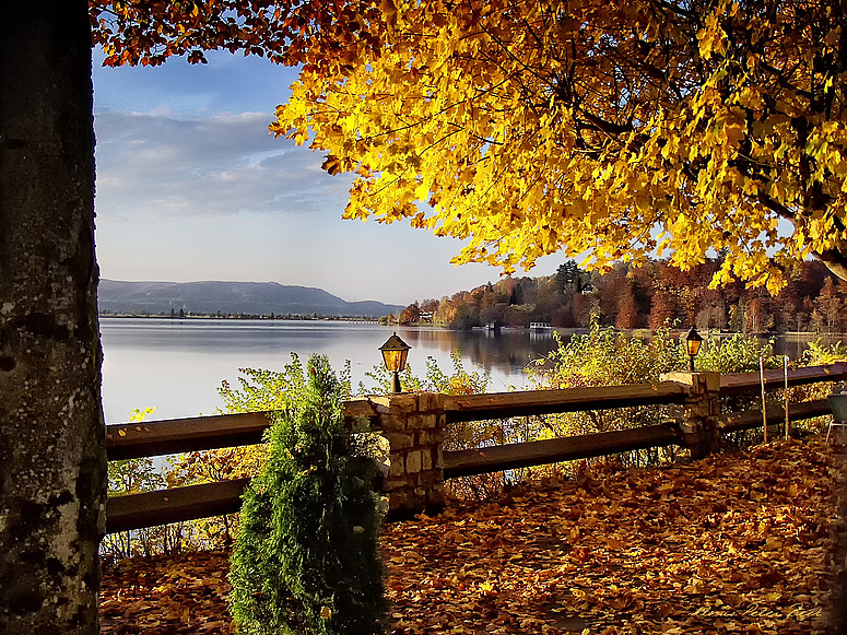
[[[272,132],[356,178],[346,217],[513,271],[726,256],[847,279],[847,30],[834,0],[92,2],[107,63],[227,48],[302,64]]]

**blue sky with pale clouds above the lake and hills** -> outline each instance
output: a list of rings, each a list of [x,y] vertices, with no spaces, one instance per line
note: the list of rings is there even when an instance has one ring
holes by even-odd
[[[458,240],[341,219],[352,177],[268,133],[295,70],[227,52],[117,69],[94,56],[102,278],[279,282],[400,305],[499,279],[450,264]],[[550,256],[528,274],[563,261]]]

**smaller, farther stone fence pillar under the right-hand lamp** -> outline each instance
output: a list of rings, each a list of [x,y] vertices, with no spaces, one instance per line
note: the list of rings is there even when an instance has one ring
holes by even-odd
[[[720,414],[720,373],[667,373],[663,381],[677,381],[689,389],[677,424],[685,447],[694,459],[699,459],[720,448],[718,415]]]

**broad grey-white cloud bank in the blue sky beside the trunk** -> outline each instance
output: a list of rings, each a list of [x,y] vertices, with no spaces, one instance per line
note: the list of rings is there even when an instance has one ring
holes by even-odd
[[[268,134],[263,113],[176,118],[101,110],[97,211],[130,219],[343,210],[350,179]]]

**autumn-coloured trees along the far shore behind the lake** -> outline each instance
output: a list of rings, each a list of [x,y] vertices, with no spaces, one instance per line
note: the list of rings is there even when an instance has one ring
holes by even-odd
[[[738,281],[709,289],[719,268],[717,259],[689,271],[654,260],[639,268],[617,262],[600,273],[583,271],[568,260],[555,275],[507,277],[427,301],[432,305],[427,316],[432,316],[430,321],[454,328],[550,322],[564,328],[598,324],[623,330],[694,325],[704,332],[847,332],[847,283],[819,260],[799,262],[785,271],[788,285],[776,295]],[[581,291],[565,282],[568,272],[583,281]],[[415,305],[402,315],[423,315]]]

